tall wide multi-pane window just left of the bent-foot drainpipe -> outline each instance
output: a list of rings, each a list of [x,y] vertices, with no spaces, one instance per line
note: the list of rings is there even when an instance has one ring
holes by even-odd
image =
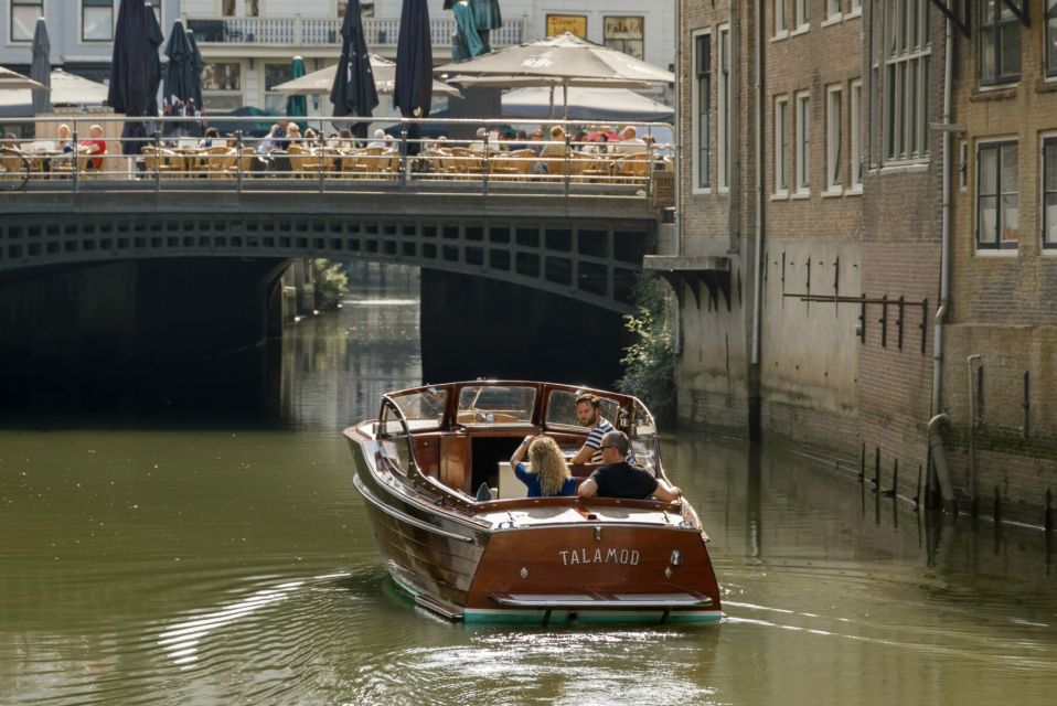
[[[885,0],[886,161],[929,153],[929,8],[930,0]]]

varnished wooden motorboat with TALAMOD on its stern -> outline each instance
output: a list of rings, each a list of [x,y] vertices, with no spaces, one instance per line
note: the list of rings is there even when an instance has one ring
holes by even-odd
[[[685,499],[525,498],[509,459],[526,435],[572,457],[591,392],[660,478],[653,417],[634,397],[523,381],[393,392],[345,429],[375,539],[394,581],[452,620],[709,622],[720,618],[708,541]],[[572,467],[584,479],[592,467]]]

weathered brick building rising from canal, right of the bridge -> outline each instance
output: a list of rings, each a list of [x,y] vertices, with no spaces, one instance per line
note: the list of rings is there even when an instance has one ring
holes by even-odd
[[[983,512],[1039,524],[1057,2],[950,20],[935,2],[680,2],[676,233],[648,267],[680,295],[684,422],[789,439],[915,496],[946,413],[935,452],[961,506],[975,486]]]

